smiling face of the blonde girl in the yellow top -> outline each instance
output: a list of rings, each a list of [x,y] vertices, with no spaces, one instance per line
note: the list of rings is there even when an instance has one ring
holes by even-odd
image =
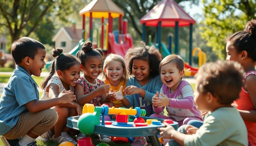
[[[106,65],[104,72],[105,72],[106,76],[108,77],[111,84],[112,83],[119,84],[121,81],[121,78],[123,76],[124,69],[122,67],[121,62],[112,60]]]

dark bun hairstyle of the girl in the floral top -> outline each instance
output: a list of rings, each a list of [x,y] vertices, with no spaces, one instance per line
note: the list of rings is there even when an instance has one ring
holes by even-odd
[[[80,51],[77,52],[77,58],[81,61],[82,65],[85,65],[85,62],[89,59],[89,57],[100,56],[99,51],[93,49],[93,45],[91,41],[87,41],[83,44],[83,47]]]

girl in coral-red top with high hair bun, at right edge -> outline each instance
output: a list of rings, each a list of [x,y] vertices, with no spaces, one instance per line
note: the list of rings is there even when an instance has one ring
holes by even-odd
[[[239,31],[227,39],[227,60],[237,61],[246,72],[244,86],[236,102],[248,132],[248,145],[256,145],[256,19],[246,24],[244,31]]]

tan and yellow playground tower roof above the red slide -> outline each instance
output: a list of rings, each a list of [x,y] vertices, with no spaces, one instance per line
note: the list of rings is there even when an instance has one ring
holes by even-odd
[[[111,0],[93,0],[79,12],[86,17],[90,17],[90,13],[92,18],[109,18],[109,13],[113,18],[124,16],[124,12]]]

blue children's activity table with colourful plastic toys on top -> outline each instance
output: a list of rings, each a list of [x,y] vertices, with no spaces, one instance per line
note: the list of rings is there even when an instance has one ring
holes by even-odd
[[[148,136],[152,145],[160,146],[157,138],[160,131],[157,128],[165,127],[163,122],[167,122],[176,130],[178,128],[178,123],[173,120],[143,117],[146,115],[146,111],[139,107],[126,109],[110,108],[106,105],[94,107],[93,104],[85,104],[82,113],[81,116],[69,117],[67,127],[80,130],[86,136],[97,133],[111,137],[127,137],[129,140],[131,137]],[[111,114],[116,114],[116,119],[111,119]],[[108,117],[108,120],[105,116]],[[129,116],[132,119],[131,122]],[[79,144],[79,146],[85,145]]]

